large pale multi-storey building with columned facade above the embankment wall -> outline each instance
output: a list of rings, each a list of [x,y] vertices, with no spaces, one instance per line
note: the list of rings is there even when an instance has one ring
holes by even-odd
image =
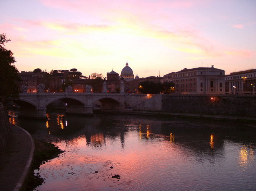
[[[175,83],[175,94],[225,94],[225,71],[218,68],[184,68],[164,75]]]

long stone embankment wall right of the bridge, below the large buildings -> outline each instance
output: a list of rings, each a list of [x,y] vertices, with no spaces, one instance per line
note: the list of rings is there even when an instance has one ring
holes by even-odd
[[[154,95],[135,110],[256,117],[255,95]]]

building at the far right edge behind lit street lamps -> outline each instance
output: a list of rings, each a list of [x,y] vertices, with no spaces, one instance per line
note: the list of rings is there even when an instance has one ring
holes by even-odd
[[[256,69],[231,72],[225,76],[226,94],[255,94]]]

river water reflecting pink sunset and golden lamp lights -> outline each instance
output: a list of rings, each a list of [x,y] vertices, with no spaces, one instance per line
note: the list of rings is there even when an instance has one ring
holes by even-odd
[[[65,151],[35,171],[45,178],[37,190],[256,189],[255,129],[135,115],[47,115],[47,121],[10,119]]]

